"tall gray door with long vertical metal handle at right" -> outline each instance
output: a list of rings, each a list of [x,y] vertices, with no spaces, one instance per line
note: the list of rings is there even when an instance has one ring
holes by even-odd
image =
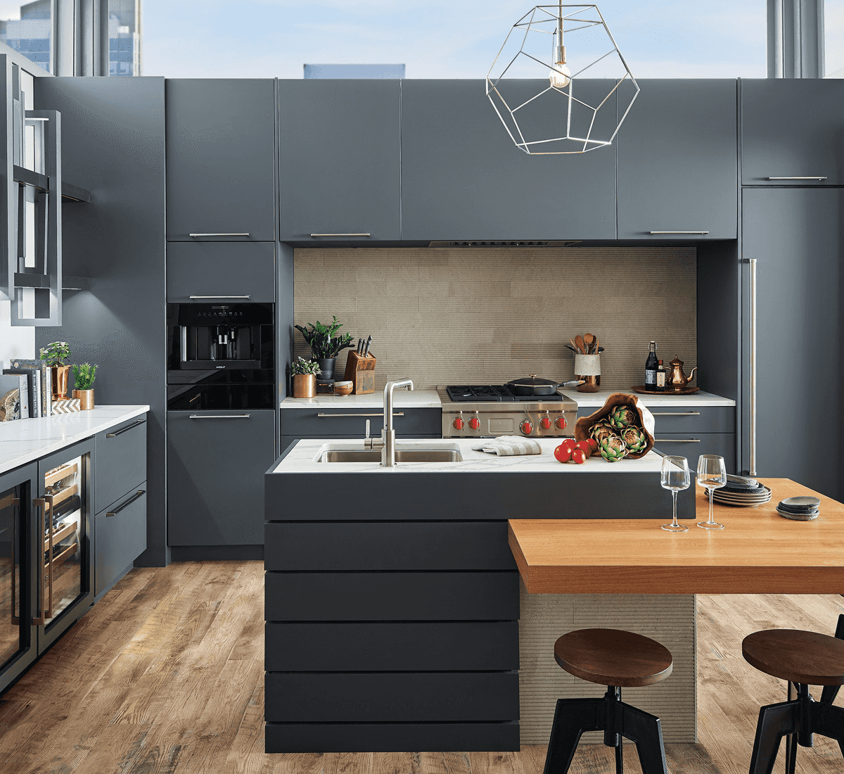
[[[751,188],[742,198],[744,257],[758,262],[756,473],[840,500],[844,190]]]

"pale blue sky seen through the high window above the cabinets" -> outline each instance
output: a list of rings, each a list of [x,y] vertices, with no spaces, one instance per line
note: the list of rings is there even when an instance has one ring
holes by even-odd
[[[390,62],[406,64],[408,78],[483,78],[512,24],[532,7],[143,0],[143,74],[301,78],[305,62]],[[598,8],[637,78],[766,76],[766,0],[605,0]]]

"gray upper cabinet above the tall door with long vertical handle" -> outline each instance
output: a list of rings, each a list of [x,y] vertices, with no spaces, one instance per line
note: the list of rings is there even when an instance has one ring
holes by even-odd
[[[743,185],[844,185],[844,80],[742,80],[741,121]]]

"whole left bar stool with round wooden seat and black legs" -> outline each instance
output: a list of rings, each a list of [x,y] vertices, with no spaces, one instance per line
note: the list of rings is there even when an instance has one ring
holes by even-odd
[[[615,748],[615,771],[622,774],[621,738],[636,742],[643,774],[667,774],[659,718],[621,701],[621,689],[654,685],[671,674],[667,647],[630,631],[580,629],[554,645],[560,667],[590,683],[606,685],[601,699],[559,699],[551,726],[545,774],[565,774],[584,731],[603,731]]]

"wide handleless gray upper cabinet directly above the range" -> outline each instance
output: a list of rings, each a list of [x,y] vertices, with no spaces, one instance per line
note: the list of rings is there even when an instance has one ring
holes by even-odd
[[[508,85],[522,101],[548,87],[527,80]],[[578,86],[584,99],[598,102],[612,89],[599,80]],[[565,135],[558,100],[542,105],[528,124],[530,137]],[[613,95],[598,111],[596,128],[614,120]],[[405,80],[402,238],[615,239],[615,149],[528,155],[496,115],[485,81]]]

